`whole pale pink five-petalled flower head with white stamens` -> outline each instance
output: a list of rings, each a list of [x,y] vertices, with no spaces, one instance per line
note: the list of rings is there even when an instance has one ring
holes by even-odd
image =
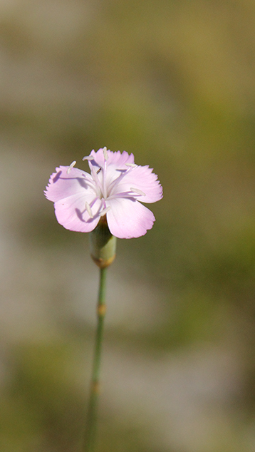
[[[91,174],[70,166],[56,168],[45,195],[54,202],[58,222],[68,230],[90,232],[106,215],[111,234],[120,239],[145,235],[155,217],[141,202],[162,198],[157,175],[135,165],[134,155],[93,150],[88,157]]]

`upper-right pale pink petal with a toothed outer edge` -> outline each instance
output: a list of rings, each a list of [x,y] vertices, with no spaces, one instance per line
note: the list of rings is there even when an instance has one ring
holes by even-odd
[[[137,166],[130,168],[124,175],[120,183],[116,183],[113,190],[110,192],[111,196],[118,195],[121,192],[129,192],[130,188],[135,188],[145,193],[137,197],[141,202],[156,202],[162,198],[162,186],[157,180],[157,175],[152,173],[152,168],[146,166]]]

